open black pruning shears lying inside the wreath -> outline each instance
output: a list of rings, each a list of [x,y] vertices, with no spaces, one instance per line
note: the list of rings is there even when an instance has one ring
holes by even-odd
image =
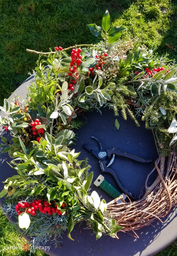
[[[140,162],[140,163],[152,163],[152,159],[142,159],[135,155],[131,155],[131,154],[122,152],[122,151],[118,150],[116,147],[106,149],[104,144],[102,144],[99,141],[99,139],[97,139],[93,136],[91,136],[91,137],[93,139],[96,139],[96,141],[98,141],[101,149],[99,150],[96,146],[91,145],[91,144],[84,144],[83,147],[86,148],[87,150],[89,150],[94,156],[96,156],[96,158],[99,159],[99,165],[101,168],[101,172],[102,173],[107,172],[109,174],[112,174],[112,176],[115,179],[115,182],[117,183],[117,185],[119,186],[119,188],[122,190],[122,192],[124,194],[128,195],[131,198],[137,198],[137,196],[133,195],[131,192],[129,192],[126,189],[126,187],[124,187],[124,185],[120,181],[119,177],[117,176],[116,171],[114,171],[112,168],[110,168],[110,166],[114,162],[115,156],[126,157],[126,158],[132,159],[132,160]],[[106,158],[110,158],[110,162],[108,164],[107,164]]]

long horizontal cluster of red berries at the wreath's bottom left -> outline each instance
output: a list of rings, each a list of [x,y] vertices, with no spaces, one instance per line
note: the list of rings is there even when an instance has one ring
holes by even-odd
[[[65,203],[63,203],[61,207],[65,207]],[[61,211],[57,208],[56,204],[54,207],[50,203],[47,203],[47,201],[43,201],[42,203],[41,199],[34,200],[32,203],[21,202],[15,206],[18,215],[20,215],[22,212],[25,212],[25,208],[27,208],[27,213],[33,216],[36,214],[37,209],[39,209],[39,211],[42,212],[43,214],[47,213],[51,215],[52,213],[57,213],[58,215],[62,215]],[[64,214],[66,214],[66,212]]]

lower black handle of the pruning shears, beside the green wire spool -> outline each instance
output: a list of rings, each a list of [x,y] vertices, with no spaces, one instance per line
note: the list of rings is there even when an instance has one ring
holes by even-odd
[[[99,161],[99,165],[100,165],[100,168],[101,168],[101,172],[102,173],[110,173],[114,179],[115,179],[115,182],[117,183],[118,187],[122,190],[122,192],[126,195],[128,195],[129,197],[131,198],[137,198],[137,196],[133,195],[132,193],[130,193],[125,187],[124,185],[122,185],[121,181],[119,180],[119,177],[117,176],[117,173],[112,169],[112,168],[108,168],[106,166],[106,161]]]

